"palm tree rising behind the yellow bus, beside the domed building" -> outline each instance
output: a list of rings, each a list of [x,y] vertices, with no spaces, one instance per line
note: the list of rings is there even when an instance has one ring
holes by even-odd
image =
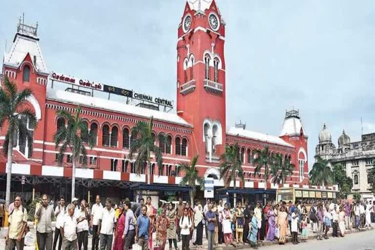
[[[316,162],[312,165],[309,173],[312,185],[331,185],[333,183],[333,172],[327,160],[321,157],[316,158]]]

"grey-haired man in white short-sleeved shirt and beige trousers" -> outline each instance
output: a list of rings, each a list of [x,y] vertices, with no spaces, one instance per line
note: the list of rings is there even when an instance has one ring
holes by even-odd
[[[74,218],[74,205],[68,205],[68,214],[64,216],[64,220],[60,227],[62,239],[62,249],[76,250],[77,249],[77,221]]]

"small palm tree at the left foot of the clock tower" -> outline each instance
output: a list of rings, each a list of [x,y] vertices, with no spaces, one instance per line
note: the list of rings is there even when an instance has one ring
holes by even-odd
[[[196,183],[199,184],[199,186],[201,187],[201,190],[204,187],[204,179],[199,176],[198,169],[195,167],[197,160],[198,160],[198,156],[195,156],[189,165],[185,163],[180,165],[180,170],[182,170],[185,173],[184,177],[182,177],[180,181],[180,185],[190,187],[191,206],[194,204]]]

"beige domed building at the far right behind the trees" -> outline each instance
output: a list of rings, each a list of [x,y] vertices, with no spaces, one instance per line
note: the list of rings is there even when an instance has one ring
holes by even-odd
[[[367,182],[368,172],[375,163],[375,133],[364,134],[359,142],[351,142],[350,137],[342,132],[337,140],[337,147],[332,142],[332,135],[324,124],[319,133],[319,144],[315,147],[315,160],[320,156],[329,160],[330,165],[341,164],[346,174],[353,179],[353,192],[359,192],[363,199],[375,200]]]

